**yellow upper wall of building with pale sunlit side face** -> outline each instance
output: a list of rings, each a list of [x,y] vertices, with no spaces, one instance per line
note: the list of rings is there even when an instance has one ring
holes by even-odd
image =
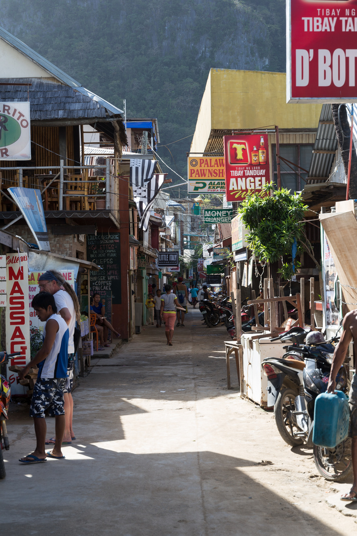
[[[317,129],[321,106],[287,104],[285,73],[211,69],[191,150],[204,151],[211,129]]]

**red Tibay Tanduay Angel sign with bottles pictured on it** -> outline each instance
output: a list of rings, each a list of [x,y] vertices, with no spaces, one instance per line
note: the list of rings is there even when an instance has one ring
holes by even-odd
[[[248,193],[268,195],[262,190],[270,182],[268,136],[252,134],[223,139],[227,201],[242,201]]]

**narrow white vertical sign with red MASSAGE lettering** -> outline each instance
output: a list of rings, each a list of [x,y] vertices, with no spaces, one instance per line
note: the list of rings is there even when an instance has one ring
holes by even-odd
[[[11,358],[9,366],[25,367],[30,361],[30,325],[28,308],[27,253],[6,255],[6,352],[21,352]],[[8,371],[12,394],[24,394],[16,373]]]

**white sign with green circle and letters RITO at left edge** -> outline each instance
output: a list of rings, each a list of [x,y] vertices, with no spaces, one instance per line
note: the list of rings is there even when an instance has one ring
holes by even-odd
[[[29,102],[0,102],[0,160],[31,160]]]

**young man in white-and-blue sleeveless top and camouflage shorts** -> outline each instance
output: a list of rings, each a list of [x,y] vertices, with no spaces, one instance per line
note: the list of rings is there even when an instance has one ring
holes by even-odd
[[[24,379],[32,367],[39,366],[30,406],[30,416],[33,417],[35,426],[36,448],[31,454],[19,459],[22,464],[43,463],[47,457],[64,458],[61,450],[66,426],[63,389],[67,377],[69,327],[57,314],[54,296],[49,292],[36,294],[32,307],[45,325],[42,348],[19,372],[19,378]],[[46,410],[56,421],[56,441],[49,452],[45,451]]]

